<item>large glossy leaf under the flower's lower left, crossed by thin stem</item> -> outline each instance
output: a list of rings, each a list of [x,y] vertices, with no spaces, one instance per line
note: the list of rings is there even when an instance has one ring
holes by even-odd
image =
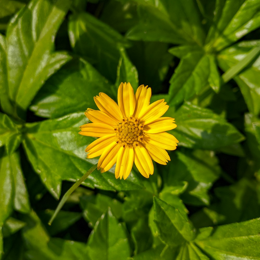
[[[97,159],[86,159],[85,148],[95,138],[78,134],[87,122],[83,113],[38,123],[27,123],[23,141],[28,159],[50,193],[59,198],[61,181],[76,181]],[[84,182],[91,188],[104,190],[140,189],[140,182],[131,174],[127,180],[115,179],[114,167],[109,172],[95,170]]]

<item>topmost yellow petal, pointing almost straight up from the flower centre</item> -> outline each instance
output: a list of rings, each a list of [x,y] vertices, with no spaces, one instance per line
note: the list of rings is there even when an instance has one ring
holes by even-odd
[[[123,113],[124,117],[128,117],[129,115],[133,115],[135,109],[135,97],[134,90],[131,84],[128,82],[121,83],[118,88],[118,106]]]

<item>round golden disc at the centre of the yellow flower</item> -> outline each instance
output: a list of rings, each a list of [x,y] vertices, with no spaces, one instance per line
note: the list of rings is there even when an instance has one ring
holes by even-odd
[[[118,125],[118,129],[115,129],[115,131],[121,142],[133,144],[134,141],[142,142],[143,127],[144,126],[133,116],[128,116],[127,118],[122,119]]]

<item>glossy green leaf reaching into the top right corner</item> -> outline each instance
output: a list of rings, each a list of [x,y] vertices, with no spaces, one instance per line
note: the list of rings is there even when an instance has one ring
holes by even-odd
[[[257,0],[218,0],[205,49],[217,51],[231,45],[260,25]]]

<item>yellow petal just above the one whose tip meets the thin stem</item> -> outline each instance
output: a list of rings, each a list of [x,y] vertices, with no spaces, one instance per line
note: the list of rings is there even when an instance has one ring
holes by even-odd
[[[108,145],[110,145],[112,142],[116,140],[115,134],[109,134],[102,136],[95,141],[93,141],[91,144],[88,145],[86,148],[86,152],[88,152],[87,158],[94,158],[103,153],[103,151],[106,149]]]

